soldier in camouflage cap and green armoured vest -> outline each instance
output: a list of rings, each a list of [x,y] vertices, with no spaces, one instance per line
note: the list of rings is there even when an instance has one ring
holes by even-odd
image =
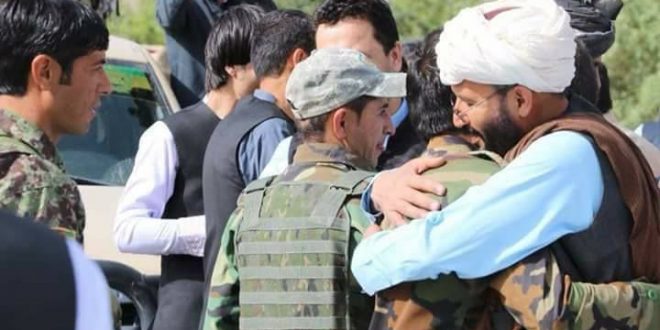
[[[320,49],[296,66],[286,95],[303,144],[282,175],[239,198],[204,329],[365,329],[371,318],[348,265],[370,223],[359,206],[365,171],[393,133],[387,98],[405,96],[405,75],[355,50]]]

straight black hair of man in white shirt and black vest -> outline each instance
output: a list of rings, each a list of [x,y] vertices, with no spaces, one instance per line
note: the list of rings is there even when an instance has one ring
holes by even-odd
[[[240,5],[223,12],[206,40],[206,91],[220,88],[229,79],[226,66],[250,63],[254,27],[264,11],[254,5]]]

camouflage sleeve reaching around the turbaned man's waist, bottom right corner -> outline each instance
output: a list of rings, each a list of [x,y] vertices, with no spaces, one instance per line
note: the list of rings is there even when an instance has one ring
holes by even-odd
[[[660,285],[571,282],[548,249],[507,268],[491,287],[525,329],[658,329]]]

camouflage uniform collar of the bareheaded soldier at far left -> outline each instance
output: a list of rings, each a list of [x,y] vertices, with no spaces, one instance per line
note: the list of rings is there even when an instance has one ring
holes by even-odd
[[[0,109],[0,136],[19,140],[47,160],[64,167],[46,133],[12,111]]]

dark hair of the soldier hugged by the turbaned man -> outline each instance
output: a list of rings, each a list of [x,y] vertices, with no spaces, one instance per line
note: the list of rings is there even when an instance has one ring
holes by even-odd
[[[453,93],[449,86],[440,82],[436,64],[435,45],[441,32],[442,29],[438,29],[426,36],[406,78],[410,122],[426,141],[438,134],[457,130],[452,122]]]

